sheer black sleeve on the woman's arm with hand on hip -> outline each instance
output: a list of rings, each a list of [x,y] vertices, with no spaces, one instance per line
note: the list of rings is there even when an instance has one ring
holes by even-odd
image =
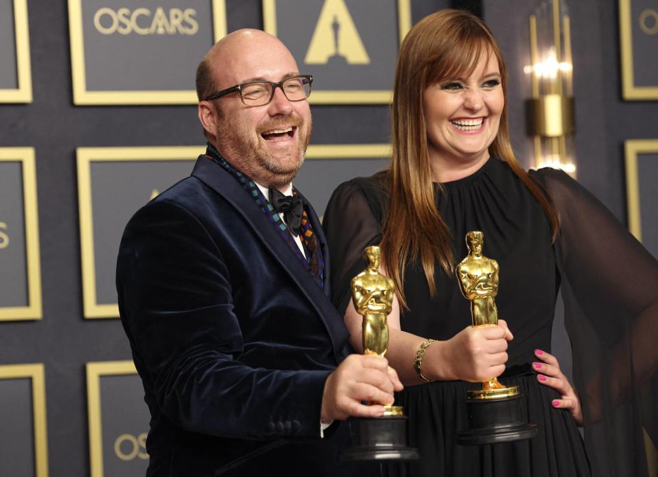
[[[560,215],[556,258],[592,474],[647,476],[658,443],[658,261],[567,174],[532,175]]]

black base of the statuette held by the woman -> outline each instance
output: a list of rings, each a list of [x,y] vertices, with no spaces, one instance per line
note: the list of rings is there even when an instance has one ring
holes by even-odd
[[[525,419],[524,396],[467,400],[468,430],[459,432],[462,445],[497,444],[537,437],[537,425]]]

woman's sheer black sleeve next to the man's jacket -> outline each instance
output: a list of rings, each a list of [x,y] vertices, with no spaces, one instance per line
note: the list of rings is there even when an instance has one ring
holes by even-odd
[[[333,191],[322,228],[331,256],[331,301],[344,315],[352,278],[366,268],[363,250],[381,241],[384,190],[370,178],[344,182]]]

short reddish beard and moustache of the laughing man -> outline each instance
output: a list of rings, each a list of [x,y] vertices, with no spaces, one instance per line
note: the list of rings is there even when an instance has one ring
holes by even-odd
[[[295,127],[296,145],[290,151],[272,154],[265,143],[259,140],[261,132],[281,129],[285,126]],[[285,119],[275,119],[259,125],[254,136],[250,127],[232,122],[228,117],[220,120],[216,132],[218,149],[225,159],[237,169],[249,175],[252,179],[269,182],[274,187],[289,184],[297,175],[304,162],[304,154],[309,143],[312,123],[307,124],[294,115]],[[265,140],[265,139],[263,139]]]

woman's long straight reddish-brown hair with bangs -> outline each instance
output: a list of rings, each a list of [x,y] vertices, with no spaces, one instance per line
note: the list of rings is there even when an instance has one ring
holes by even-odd
[[[541,204],[553,239],[557,234],[559,219],[550,200],[514,158],[507,121],[507,71],[491,30],[463,10],[441,10],[426,16],[407,34],[397,59],[391,121],[393,155],[388,171],[390,200],[381,240],[384,267],[405,308],[403,284],[408,260],[420,258],[431,295],[436,293],[436,261],[449,276],[455,265],[451,232],[434,197],[423,113],[425,88],[446,77],[471,75],[480,58],[491,54],[500,68],[505,106],[489,154],[509,164]]]

